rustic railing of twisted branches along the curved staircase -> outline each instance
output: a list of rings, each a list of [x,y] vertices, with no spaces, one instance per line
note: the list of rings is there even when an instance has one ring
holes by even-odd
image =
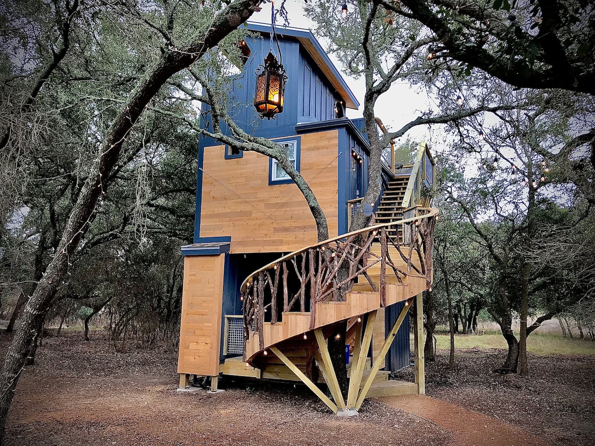
[[[313,329],[316,303],[345,301],[346,293],[356,284],[367,284],[380,293],[381,307],[386,306],[387,280],[403,283],[409,274],[421,274],[426,275],[426,286],[430,288],[431,277],[427,272],[431,274],[438,209],[414,206],[406,211],[412,213],[410,218],[321,241],[250,274],[240,288],[245,346],[253,331],[259,335],[262,350],[265,321],[278,323],[283,313],[309,311],[309,329]],[[403,240],[405,236],[407,240]],[[373,246],[380,249],[372,250]],[[398,258],[391,257],[391,250]],[[374,274],[370,275],[374,266]]]

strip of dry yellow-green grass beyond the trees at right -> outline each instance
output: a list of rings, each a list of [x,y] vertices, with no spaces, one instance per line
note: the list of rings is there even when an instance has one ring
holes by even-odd
[[[439,350],[450,348],[448,334],[436,334]],[[455,348],[508,348],[499,332],[481,335],[455,335]],[[559,335],[533,333],[527,340],[527,350],[538,356],[549,354],[595,354],[595,342],[563,338]]]

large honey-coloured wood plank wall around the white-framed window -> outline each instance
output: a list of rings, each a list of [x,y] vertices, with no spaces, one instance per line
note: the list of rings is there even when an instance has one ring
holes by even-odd
[[[300,135],[300,173],[337,234],[337,130]],[[292,136],[283,137],[290,140]],[[205,147],[201,237],[231,236],[231,253],[290,252],[316,243],[316,225],[295,184],[269,186],[269,159],[255,152],[225,159],[224,146]]]

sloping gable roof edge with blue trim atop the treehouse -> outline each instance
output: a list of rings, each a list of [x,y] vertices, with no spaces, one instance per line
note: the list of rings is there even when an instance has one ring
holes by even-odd
[[[268,35],[271,34],[271,26],[269,24],[248,22],[246,28],[253,32]],[[322,71],[334,89],[337,90],[339,96],[345,101],[345,105],[348,108],[358,109],[359,102],[355,98],[355,95],[353,95],[353,92],[349,86],[347,86],[347,83],[339,73],[339,70],[337,70],[333,62],[331,62],[331,59],[328,57],[324,49],[322,49],[322,46],[318,43],[318,40],[310,30],[288,26],[275,27],[275,32],[280,37],[294,37],[301,43],[306,52],[308,52],[308,55],[314,60],[315,64],[317,64],[317,67]]]

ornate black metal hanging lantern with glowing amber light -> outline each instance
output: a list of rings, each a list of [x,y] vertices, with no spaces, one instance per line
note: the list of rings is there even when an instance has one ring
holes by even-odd
[[[256,69],[254,106],[261,119],[275,119],[275,115],[283,111],[286,81],[283,65],[270,52],[264,59],[264,65],[258,65]]]

